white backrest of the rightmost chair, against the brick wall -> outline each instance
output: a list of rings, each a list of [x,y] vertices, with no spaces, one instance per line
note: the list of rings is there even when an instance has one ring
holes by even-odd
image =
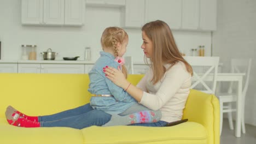
[[[243,96],[246,95],[249,85],[249,76],[251,71],[252,58],[232,58],[231,59],[231,73],[246,73],[243,79]],[[232,83],[231,86],[232,87]]]

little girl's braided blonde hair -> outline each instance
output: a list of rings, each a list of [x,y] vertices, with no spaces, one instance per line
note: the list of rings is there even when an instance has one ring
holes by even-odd
[[[118,57],[118,43],[124,44],[128,40],[128,34],[120,27],[108,27],[101,36],[101,46],[105,49],[113,49],[114,57]],[[123,74],[127,78],[127,69],[122,65]]]

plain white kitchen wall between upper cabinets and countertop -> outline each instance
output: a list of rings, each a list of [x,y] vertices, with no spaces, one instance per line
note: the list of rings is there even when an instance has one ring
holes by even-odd
[[[121,13],[118,8],[86,7],[83,27],[60,26],[21,26],[20,0],[0,0],[0,41],[2,41],[2,59],[18,60],[21,57],[21,44],[36,44],[39,52],[51,48],[58,52],[56,59],[80,56],[84,59],[84,48],[92,49],[92,61],[101,51],[100,38],[104,28],[120,26]],[[144,53],[140,29],[125,29],[129,34],[126,56],[133,56],[136,62],[143,62]],[[173,31],[179,49],[190,55],[190,49],[205,45],[206,56],[211,55],[210,32]]]

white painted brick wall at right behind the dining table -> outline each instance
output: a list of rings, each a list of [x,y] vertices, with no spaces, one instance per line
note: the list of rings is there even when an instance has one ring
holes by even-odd
[[[231,58],[251,57],[252,69],[246,95],[246,123],[256,125],[256,1],[218,0],[217,31],[213,32],[213,56],[220,56],[223,70]]]

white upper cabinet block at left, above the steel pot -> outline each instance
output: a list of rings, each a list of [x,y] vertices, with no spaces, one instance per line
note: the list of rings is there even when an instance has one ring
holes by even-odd
[[[22,0],[24,25],[83,25],[84,0]]]

